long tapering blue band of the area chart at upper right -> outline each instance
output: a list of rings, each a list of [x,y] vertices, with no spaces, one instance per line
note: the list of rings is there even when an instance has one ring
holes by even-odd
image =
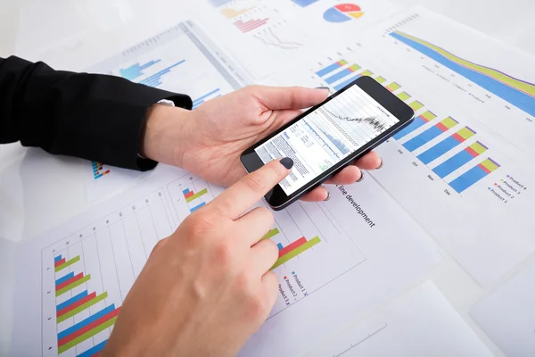
[[[418,42],[413,41],[410,38],[404,37],[394,32],[391,32],[390,35],[391,37],[394,37],[399,41],[405,43],[407,46],[413,47],[414,49],[416,49],[416,51],[432,58],[436,62],[439,62],[443,66],[448,67],[451,71],[456,71],[461,76],[473,81],[478,86],[487,89],[494,95],[498,95],[506,102],[517,106],[524,112],[528,112],[531,115],[535,115],[535,98],[531,95],[525,94],[514,87],[509,87],[506,84],[498,81],[497,79],[488,77],[480,72],[465,68],[460,64],[457,64],[457,62],[449,60],[449,58],[436,52],[432,48],[419,44]]]

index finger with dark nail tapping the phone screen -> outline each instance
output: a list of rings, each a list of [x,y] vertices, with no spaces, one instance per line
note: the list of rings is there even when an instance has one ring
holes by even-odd
[[[292,159],[288,157],[280,161],[268,162],[259,170],[244,176],[233,186],[228,187],[225,192],[207,205],[207,209],[228,219],[236,220],[281,182],[290,173],[292,166]]]

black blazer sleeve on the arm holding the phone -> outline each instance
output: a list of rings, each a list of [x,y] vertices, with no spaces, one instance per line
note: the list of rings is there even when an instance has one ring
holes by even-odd
[[[127,79],[0,58],[0,144],[21,141],[51,154],[151,170],[156,162],[138,149],[146,112],[161,99],[192,108],[187,95]]]

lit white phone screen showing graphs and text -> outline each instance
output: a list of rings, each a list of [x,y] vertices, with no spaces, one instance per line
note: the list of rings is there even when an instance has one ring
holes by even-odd
[[[292,158],[292,172],[280,182],[284,193],[292,195],[398,122],[383,105],[353,85],[255,152],[264,163]]]

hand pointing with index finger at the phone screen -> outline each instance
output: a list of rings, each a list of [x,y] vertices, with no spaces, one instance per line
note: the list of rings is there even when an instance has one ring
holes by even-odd
[[[283,159],[291,167],[291,159]],[[153,249],[102,356],[230,356],[276,302],[267,208],[243,215],[290,170],[273,161],[193,212]]]

